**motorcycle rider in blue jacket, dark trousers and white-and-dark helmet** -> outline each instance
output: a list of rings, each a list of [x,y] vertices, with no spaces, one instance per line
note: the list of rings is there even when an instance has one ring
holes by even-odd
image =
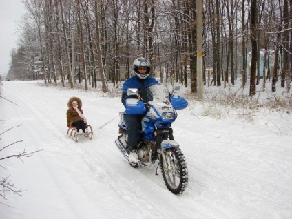
[[[133,63],[133,74],[131,78],[127,79],[123,84],[122,103],[125,106],[127,98],[137,98],[136,96],[128,96],[128,88],[137,88],[140,97],[143,99],[143,103],[147,103],[147,87],[158,83],[156,79],[149,77],[151,65],[148,59],[140,57],[135,59]],[[124,114],[124,121],[127,125],[128,145],[131,148],[129,154],[129,162],[138,163],[137,146],[139,142],[141,119],[144,114],[132,115]]]

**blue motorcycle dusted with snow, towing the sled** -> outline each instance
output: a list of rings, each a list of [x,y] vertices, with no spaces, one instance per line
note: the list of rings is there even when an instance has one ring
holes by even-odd
[[[128,160],[130,148],[127,146],[127,126],[123,121],[123,114],[144,114],[137,149],[140,162],[129,164],[135,168],[150,167],[158,160],[165,185],[173,194],[182,194],[188,183],[185,156],[174,140],[171,128],[171,123],[174,123],[178,116],[176,110],[184,109],[188,105],[185,98],[178,96],[179,89],[180,86],[174,87],[170,94],[165,85],[151,85],[147,88],[147,104],[141,101],[138,89],[128,89],[127,95],[138,96],[138,99],[126,100],[125,112],[119,114],[120,135],[115,140],[116,146]]]

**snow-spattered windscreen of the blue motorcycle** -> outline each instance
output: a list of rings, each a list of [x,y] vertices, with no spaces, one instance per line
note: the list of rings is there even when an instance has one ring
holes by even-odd
[[[147,87],[147,101],[154,103],[169,103],[169,92],[165,85],[154,84]]]

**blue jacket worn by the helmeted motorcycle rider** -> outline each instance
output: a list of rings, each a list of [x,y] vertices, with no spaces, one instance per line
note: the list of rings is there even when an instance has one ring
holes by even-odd
[[[141,90],[140,83],[144,83],[145,91]],[[127,79],[123,84],[123,94],[122,94],[122,103],[125,106],[125,101],[127,98],[137,98],[136,96],[127,96],[127,89],[128,88],[137,88],[139,90],[139,95],[143,98],[143,103],[147,102],[147,93],[146,89],[149,85],[154,85],[158,83],[156,79],[152,77],[147,77],[146,79],[138,79],[136,76],[132,76],[131,78]]]

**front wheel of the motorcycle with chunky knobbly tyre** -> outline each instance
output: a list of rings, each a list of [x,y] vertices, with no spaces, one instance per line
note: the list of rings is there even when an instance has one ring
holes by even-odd
[[[164,150],[160,157],[160,164],[167,189],[173,194],[183,193],[187,188],[188,172],[185,156],[180,148],[171,147]]]

